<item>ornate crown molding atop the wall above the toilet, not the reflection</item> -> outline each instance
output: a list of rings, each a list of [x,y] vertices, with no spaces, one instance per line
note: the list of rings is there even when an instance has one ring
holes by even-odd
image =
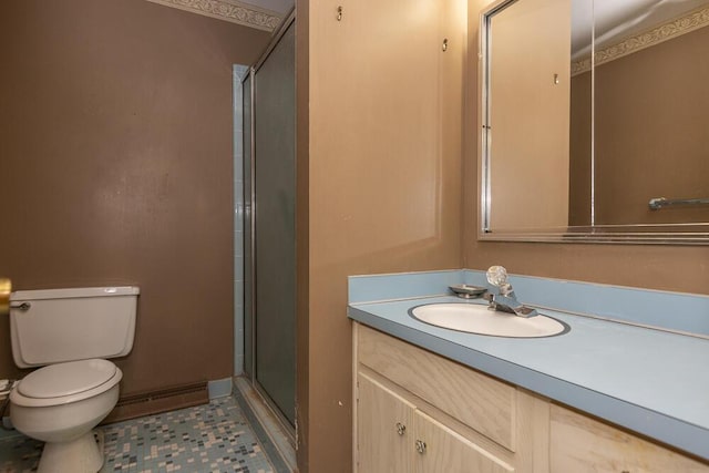
[[[217,20],[229,21],[264,31],[275,31],[284,17],[277,12],[237,0],[147,0]]]

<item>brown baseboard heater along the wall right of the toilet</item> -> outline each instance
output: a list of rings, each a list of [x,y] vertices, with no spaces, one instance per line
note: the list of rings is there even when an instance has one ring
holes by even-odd
[[[102,423],[120,422],[207,402],[209,402],[207,381],[129,394],[119,399],[113,411]]]

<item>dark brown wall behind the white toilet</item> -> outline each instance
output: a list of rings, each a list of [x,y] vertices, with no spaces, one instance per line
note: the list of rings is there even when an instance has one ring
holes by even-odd
[[[233,372],[232,64],[268,39],[144,0],[3,6],[0,274],[140,286],[123,394]]]

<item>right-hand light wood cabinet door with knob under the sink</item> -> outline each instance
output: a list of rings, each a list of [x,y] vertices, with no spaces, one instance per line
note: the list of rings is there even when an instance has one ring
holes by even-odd
[[[421,411],[414,413],[417,473],[508,473],[514,467]]]

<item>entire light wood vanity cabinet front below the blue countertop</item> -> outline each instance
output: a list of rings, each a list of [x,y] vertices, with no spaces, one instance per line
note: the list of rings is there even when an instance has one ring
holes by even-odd
[[[359,473],[696,473],[709,463],[353,323]]]

